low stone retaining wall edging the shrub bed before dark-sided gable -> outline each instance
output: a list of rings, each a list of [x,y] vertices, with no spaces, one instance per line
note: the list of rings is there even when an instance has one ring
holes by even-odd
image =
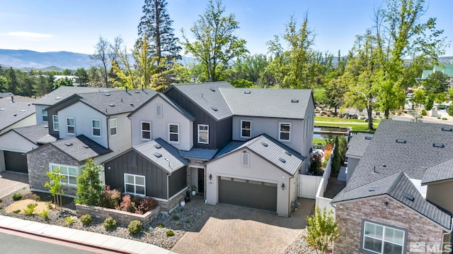
[[[108,218],[113,217],[116,219],[118,224],[127,226],[133,220],[138,219],[145,226],[151,222],[155,217],[161,214],[161,206],[158,205],[154,207],[153,210],[146,212],[144,214],[134,214],[132,212],[125,212],[110,208],[97,207],[93,205],[80,205],[76,204],[76,214],[77,217],[81,217],[84,214],[90,214],[91,217],[101,220],[102,222]]]

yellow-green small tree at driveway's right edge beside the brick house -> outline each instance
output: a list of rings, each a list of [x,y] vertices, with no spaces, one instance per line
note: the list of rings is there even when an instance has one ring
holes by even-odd
[[[323,210],[316,205],[314,214],[306,217],[308,226],[306,226],[307,234],[304,237],[316,253],[328,253],[329,246],[332,246],[333,241],[340,236],[337,234],[338,226],[333,218],[332,210],[327,212],[326,207]]]

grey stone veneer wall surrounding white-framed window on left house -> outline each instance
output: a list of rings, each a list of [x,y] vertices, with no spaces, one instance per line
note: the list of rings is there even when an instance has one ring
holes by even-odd
[[[48,191],[44,184],[49,181],[46,175],[50,171],[49,163],[79,166],[79,162],[57,149],[53,145],[43,145],[27,155],[28,182],[35,190]],[[65,195],[76,195],[75,186],[64,186]]]

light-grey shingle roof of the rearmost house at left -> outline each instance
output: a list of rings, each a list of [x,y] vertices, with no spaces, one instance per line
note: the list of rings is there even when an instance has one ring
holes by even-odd
[[[70,97],[76,93],[84,93],[84,92],[106,92],[106,91],[113,91],[116,89],[113,88],[105,88],[105,87],[69,87],[69,86],[61,86],[57,89],[49,92],[47,95],[44,95],[40,99],[38,99],[35,103],[36,105],[53,105],[57,102]]]

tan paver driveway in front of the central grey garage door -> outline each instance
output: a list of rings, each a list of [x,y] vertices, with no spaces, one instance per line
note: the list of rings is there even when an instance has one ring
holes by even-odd
[[[200,198],[186,204],[205,210],[197,224],[171,249],[190,253],[283,253],[306,226],[314,200],[300,198],[291,217],[234,205],[205,205]]]

